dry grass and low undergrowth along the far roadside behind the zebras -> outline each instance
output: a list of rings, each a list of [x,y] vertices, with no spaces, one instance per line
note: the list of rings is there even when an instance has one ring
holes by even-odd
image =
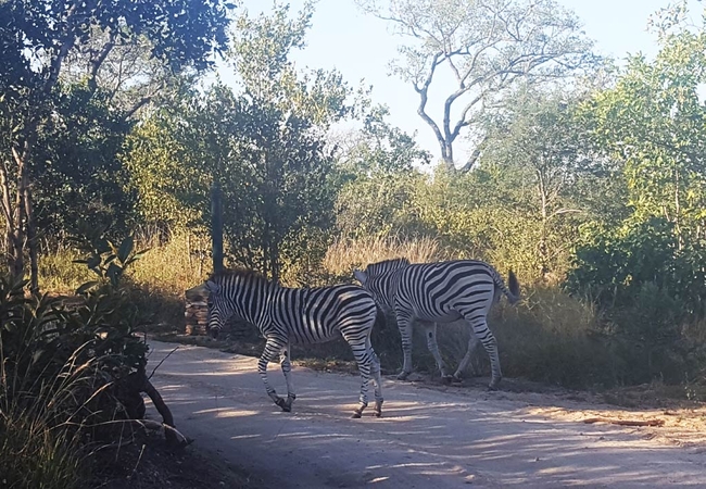
[[[182,330],[184,291],[202,283],[210,272],[207,255],[202,251],[205,243],[203,238],[199,239],[185,234],[165,242],[149,235],[141,238],[137,247],[149,248],[150,252],[135,264],[126,293],[141,312],[143,322],[165,325],[164,330],[168,331]],[[42,258],[42,286],[47,290],[66,293],[86,278],[81,265],[71,263],[75,256],[75,252],[63,247]],[[352,283],[354,268],[399,256],[412,262],[457,258],[453,250],[427,238],[338,239],[329,247],[318,269],[307,268],[302,272],[305,276],[292,277],[292,280],[293,285],[317,286]],[[581,389],[656,380],[692,386],[691,392],[702,391],[694,386],[704,378],[706,324],[703,322],[676,324],[670,328],[669,338],[657,334],[646,336],[651,329],[645,329],[644,323],[650,318],[644,314],[622,310],[608,316],[591,300],[571,297],[559,286],[533,285],[519,278],[522,301],[509,305],[502,299],[489,317],[490,328],[499,341],[505,376]],[[371,340],[383,369],[393,373],[402,366],[400,334],[394,318],[388,317],[384,327],[381,324],[375,327]],[[454,372],[465,354],[469,330],[463,323],[439,327],[439,346],[449,371]],[[436,373],[437,366],[420,327],[415,327],[413,354],[415,369]],[[298,347],[295,356],[333,363],[353,360],[342,339]],[[474,362],[484,373],[489,372],[488,355],[482,347],[475,352]]]

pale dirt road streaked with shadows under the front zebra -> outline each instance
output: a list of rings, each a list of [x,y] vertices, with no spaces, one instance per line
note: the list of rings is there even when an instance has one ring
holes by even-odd
[[[150,344],[151,366],[175,348]],[[279,366],[270,373],[285,392]],[[443,392],[386,379],[383,417],[368,412],[351,419],[358,377],[294,367],[298,400],[282,413],[266,396],[255,359],[185,346],[153,380],[196,447],[268,487],[706,488],[704,446],[669,446],[647,439],[645,428],[538,414],[527,400],[502,392]]]

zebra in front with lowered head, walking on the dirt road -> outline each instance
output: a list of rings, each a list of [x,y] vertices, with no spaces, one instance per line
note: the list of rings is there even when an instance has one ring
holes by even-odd
[[[291,379],[290,344],[329,341],[340,333],[351,346],[363,383],[361,404],[353,417],[367,406],[368,380],[375,383],[375,415],[382,414],[380,362],[370,344],[377,308],[368,292],[355,285],[315,289],[280,287],[250,271],[218,272],[206,280],[209,330],[217,337],[225,322],[236,316],[251,323],[266,339],[257,372],[272,400],[290,412],[297,399]],[[267,364],[279,355],[287,381],[287,400],[267,381]]]

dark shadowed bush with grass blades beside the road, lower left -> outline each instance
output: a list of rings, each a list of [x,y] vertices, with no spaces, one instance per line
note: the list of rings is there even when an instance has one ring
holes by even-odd
[[[25,281],[0,277],[4,487],[77,487],[90,465],[89,442],[113,439],[122,419],[141,415],[141,398],[123,388],[147,364],[119,287],[136,256],[131,240],[92,254],[86,262],[100,279],[71,303],[26,297]]]

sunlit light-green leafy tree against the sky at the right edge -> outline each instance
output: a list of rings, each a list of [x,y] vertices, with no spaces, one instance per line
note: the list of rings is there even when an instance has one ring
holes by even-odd
[[[632,218],[672,223],[679,249],[706,238],[706,30],[684,27],[685,13],[682,2],[656,17],[656,59],[632,57],[584,106],[594,138],[623,165]]]

